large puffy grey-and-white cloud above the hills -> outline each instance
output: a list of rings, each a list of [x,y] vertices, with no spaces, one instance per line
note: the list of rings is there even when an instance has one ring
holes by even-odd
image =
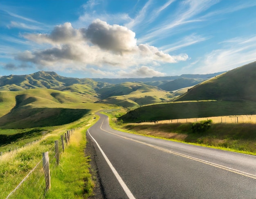
[[[137,45],[133,31],[124,26],[109,25],[99,19],[94,20],[87,28],[75,29],[67,22],[54,27],[50,34],[26,34],[24,37],[39,44],[51,45],[45,49],[23,51],[15,56],[16,60],[33,63],[40,69],[54,69],[57,66],[63,70],[74,68],[85,71],[92,67],[103,67],[113,72],[143,65],[153,67],[161,63],[176,63],[188,58],[186,54],[171,56],[147,44]],[[150,69],[141,67],[141,76],[146,71]],[[153,69],[151,73],[155,76],[162,75],[161,72],[155,73]]]

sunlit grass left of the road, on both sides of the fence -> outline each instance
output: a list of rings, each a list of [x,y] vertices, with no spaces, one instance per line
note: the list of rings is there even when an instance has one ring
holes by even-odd
[[[16,188],[29,171],[42,159],[42,153],[49,151],[49,162],[52,188],[45,198],[87,198],[92,195],[93,182],[89,172],[90,157],[85,157],[85,131],[96,122],[93,115],[82,120],[64,125],[58,130],[47,134],[43,139],[33,145],[25,146],[17,152],[6,153],[0,161],[0,198]],[[67,129],[81,126],[71,136],[70,143],[65,152],[61,154],[60,164],[56,165],[54,158],[54,140]],[[61,151],[61,147],[59,147]],[[10,198],[43,198],[45,181],[43,177],[42,162],[36,170],[22,183]]]

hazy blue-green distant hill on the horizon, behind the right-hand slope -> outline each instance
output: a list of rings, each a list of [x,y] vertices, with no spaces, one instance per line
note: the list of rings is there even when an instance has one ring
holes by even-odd
[[[194,78],[178,78],[173,81],[169,81],[165,84],[159,85],[158,87],[166,91],[174,91],[184,87],[190,87],[201,83],[204,79],[194,79]]]

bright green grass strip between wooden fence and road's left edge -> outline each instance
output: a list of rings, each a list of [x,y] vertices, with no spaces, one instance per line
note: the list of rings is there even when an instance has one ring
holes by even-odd
[[[87,198],[92,195],[94,183],[89,172],[90,157],[85,157],[85,129],[75,132],[61,157],[58,167],[52,170],[52,188],[45,198]]]

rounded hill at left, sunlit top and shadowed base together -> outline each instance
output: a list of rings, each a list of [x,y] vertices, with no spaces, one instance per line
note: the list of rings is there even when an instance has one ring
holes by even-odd
[[[1,91],[0,128],[56,126],[73,122],[90,111],[88,98],[52,89]],[[98,105],[100,106],[100,105]]]

